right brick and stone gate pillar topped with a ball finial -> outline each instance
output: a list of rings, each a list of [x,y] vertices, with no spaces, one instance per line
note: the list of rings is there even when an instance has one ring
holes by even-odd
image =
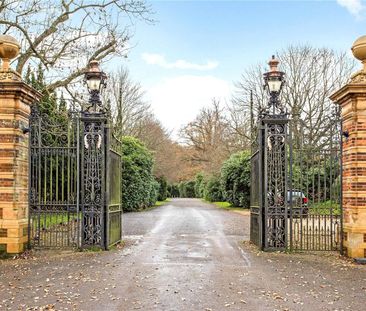
[[[330,98],[342,109],[343,224],[345,254],[366,257],[366,36],[355,41],[354,56],[364,68]]]

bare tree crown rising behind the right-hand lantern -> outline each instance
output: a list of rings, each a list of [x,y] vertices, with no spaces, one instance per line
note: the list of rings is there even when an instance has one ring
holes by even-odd
[[[345,52],[303,45],[290,46],[279,52],[278,59],[280,70],[286,74],[281,101],[294,120],[294,136],[298,137],[301,131],[305,133],[307,144],[323,144],[323,137],[334,120],[335,107],[329,96],[347,82],[355,68],[354,60]],[[259,109],[267,105],[268,95],[263,89],[265,71],[268,68],[264,65],[251,67],[236,83],[237,91],[230,109],[240,112],[242,120],[238,123],[232,118],[231,124],[235,127],[237,123],[250,124],[247,120],[250,120],[251,92],[254,115],[258,115]],[[300,127],[303,128],[300,130]],[[248,139],[248,132],[240,132],[240,135]]]

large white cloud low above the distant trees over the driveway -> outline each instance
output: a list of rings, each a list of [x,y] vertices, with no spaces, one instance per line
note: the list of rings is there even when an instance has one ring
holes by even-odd
[[[148,89],[147,97],[158,119],[173,131],[193,121],[202,107],[210,105],[212,98],[229,98],[231,83],[210,76],[184,75],[166,79]]]

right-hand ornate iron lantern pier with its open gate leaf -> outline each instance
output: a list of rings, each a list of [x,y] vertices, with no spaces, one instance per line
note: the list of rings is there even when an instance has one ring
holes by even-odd
[[[252,157],[251,241],[265,250],[288,243],[287,123],[285,114],[261,118]]]

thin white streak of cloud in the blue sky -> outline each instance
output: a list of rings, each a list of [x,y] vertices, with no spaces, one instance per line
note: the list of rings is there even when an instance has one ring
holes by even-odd
[[[194,64],[184,59],[178,59],[174,62],[168,62],[164,55],[142,53],[141,58],[149,65],[158,65],[167,69],[194,69],[194,70],[211,70],[215,69],[219,63],[216,61],[207,61],[206,64]]]

